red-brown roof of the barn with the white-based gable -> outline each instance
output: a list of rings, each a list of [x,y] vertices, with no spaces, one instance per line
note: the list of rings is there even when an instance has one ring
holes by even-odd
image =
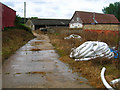
[[[77,14],[78,17],[81,18],[84,24],[95,23],[93,19],[94,15],[97,23],[120,23],[118,19],[112,14],[101,14],[101,13],[83,12],[83,11],[76,11],[75,14]]]

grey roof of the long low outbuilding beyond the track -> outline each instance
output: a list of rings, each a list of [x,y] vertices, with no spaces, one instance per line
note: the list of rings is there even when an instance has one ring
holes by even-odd
[[[68,25],[70,19],[30,19],[34,25]]]

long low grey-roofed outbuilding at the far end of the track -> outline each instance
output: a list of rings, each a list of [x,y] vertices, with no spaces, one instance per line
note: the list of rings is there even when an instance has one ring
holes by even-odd
[[[26,25],[32,30],[46,27],[68,27],[69,19],[29,19]]]

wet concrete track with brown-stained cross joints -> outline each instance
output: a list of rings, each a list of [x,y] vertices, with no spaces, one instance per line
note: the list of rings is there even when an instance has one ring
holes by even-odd
[[[6,60],[2,68],[2,87],[92,88],[85,78],[72,73],[58,58],[49,38],[38,35]]]

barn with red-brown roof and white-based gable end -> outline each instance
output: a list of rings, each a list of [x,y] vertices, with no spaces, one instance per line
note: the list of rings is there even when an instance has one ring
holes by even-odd
[[[69,28],[82,28],[84,30],[117,30],[120,22],[112,14],[75,11],[70,20]]]

